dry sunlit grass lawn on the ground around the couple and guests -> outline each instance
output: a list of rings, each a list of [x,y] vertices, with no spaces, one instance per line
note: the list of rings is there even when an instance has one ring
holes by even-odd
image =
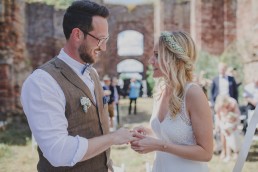
[[[128,115],[128,99],[122,99],[120,104],[121,125],[133,128],[138,125],[148,125],[152,111],[151,99],[137,100],[137,115]],[[111,158],[114,165],[124,164],[126,172],[145,172],[145,164],[152,164],[154,153],[137,154],[130,145],[113,146]],[[34,172],[38,155],[32,148],[30,131],[26,122],[19,121],[0,131],[0,172]],[[218,155],[214,155],[208,163],[211,172],[231,172],[235,161],[224,163]],[[253,141],[243,172],[254,172],[258,169],[258,142]]]

